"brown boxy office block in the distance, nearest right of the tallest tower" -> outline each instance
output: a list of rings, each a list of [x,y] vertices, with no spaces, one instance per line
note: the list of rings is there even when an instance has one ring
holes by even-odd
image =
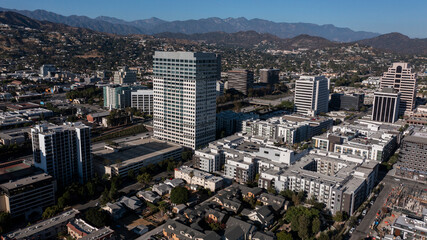
[[[245,95],[254,83],[254,72],[245,69],[228,71],[228,89],[235,89]]]

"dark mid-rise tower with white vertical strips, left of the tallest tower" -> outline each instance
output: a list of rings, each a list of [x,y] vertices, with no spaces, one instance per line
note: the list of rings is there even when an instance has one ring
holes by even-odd
[[[90,128],[81,122],[37,125],[31,129],[34,165],[53,176],[59,186],[92,178]]]

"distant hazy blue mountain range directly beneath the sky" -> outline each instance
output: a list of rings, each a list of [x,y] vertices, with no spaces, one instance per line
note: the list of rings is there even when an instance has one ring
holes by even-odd
[[[122,19],[100,16],[95,19],[86,16],[63,16],[45,10],[16,10],[0,8],[0,11],[14,11],[27,17],[62,23],[73,27],[88,28],[99,32],[128,34],[158,34],[163,32],[201,34],[210,32],[235,33],[256,31],[269,33],[280,38],[292,38],[301,34],[318,36],[336,42],[352,42],[379,36],[378,33],[353,31],[349,28],[336,27],[332,24],[317,25],[311,23],[277,23],[263,19],[240,18],[205,18],[199,20],[165,21],[158,18],[125,21]]]

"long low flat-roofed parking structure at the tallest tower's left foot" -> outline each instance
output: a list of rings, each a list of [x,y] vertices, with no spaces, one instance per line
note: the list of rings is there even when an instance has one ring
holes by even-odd
[[[95,171],[102,176],[125,177],[130,170],[139,171],[141,167],[156,164],[172,158],[180,160],[182,147],[157,139],[141,139],[127,142],[119,147],[105,146],[104,149],[94,151]]]

